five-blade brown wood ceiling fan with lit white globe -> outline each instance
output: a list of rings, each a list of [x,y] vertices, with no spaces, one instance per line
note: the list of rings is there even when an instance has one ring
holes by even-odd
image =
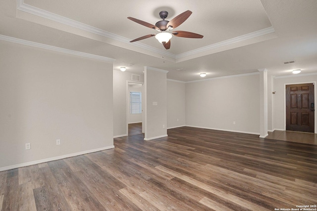
[[[136,18],[132,18],[132,17],[128,17],[128,19],[141,24],[143,26],[149,27],[151,29],[155,29],[157,31],[159,31],[158,34],[151,34],[151,35],[145,35],[143,37],[134,39],[133,41],[130,42],[136,42],[136,41],[140,41],[140,40],[144,40],[147,38],[151,38],[154,37],[164,45],[165,49],[169,49],[170,48],[170,39],[173,36],[176,37],[182,37],[182,38],[203,38],[203,35],[199,35],[196,33],[192,33],[192,32],[185,32],[185,31],[173,31],[173,32],[169,32],[172,29],[175,29],[176,27],[178,27],[179,25],[181,25],[185,20],[187,20],[187,18],[192,14],[192,11],[187,10],[179,15],[177,15],[176,17],[174,17],[171,21],[165,20],[165,18],[167,18],[168,12],[167,11],[160,11],[159,12],[159,17],[163,20],[158,21],[155,25],[147,23],[145,21],[136,19]]]

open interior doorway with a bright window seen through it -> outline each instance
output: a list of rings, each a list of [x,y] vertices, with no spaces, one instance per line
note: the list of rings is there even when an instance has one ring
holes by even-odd
[[[144,133],[144,86],[142,82],[126,84],[126,134]]]

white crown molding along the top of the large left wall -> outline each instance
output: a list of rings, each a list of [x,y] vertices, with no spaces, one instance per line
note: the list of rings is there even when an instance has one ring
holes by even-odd
[[[21,39],[12,38],[12,37],[8,37],[8,36],[4,36],[4,35],[0,35],[0,40],[6,41],[6,42],[13,42],[13,43],[17,43],[17,44],[28,45],[28,46],[32,46],[32,47],[38,47],[38,48],[42,48],[42,49],[46,49],[46,50],[53,50],[53,51],[67,53],[67,54],[71,54],[71,55],[75,55],[75,56],[82,56],[82,57],[86,57],[86,58],[90,58],[90,59],[98,59],[98,60],[102,60],[102,61],[106,61],[106,62],[114,62],[115,61],[115,59],[107,58],[104,56],[99,56],[99,55],[90,54],[90,53],[84,53],[84,52],[75,51],[75,50],[69,50],[66,48],[55,47],[52,45],[42,44],[42,43],[38,43],[38,42],[21,40]]]

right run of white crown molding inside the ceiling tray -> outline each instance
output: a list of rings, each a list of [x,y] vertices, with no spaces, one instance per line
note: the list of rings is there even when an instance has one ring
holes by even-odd
[[[246,34],[246,35],[242,35],[242,36],[239,36],[239,37],[236,37],[236,38],[232,38],[232,39],[229,39],[229,40],[226,40],[226,41],[217,42],[217,43],[214,43],[214,44],[211,44],[211,45],[207,45],[205,47],[201,47],[201,48],[197,48],[195,50],[187,51],[185,53],[177,54],[176,55],[176,59],[184,58],[186,56],[194,55],[194,54],[201,53],[201,52],[204,52],[204,51],[207,51],[207,50],[223,47],[223,46],[230,45],[230,44],[233,44],[233,43],[236,43],[236,42],[242,42],[242,41],[249,40],[249,39],[252,39],[252,38],[260,37],[260,36],[263,36],[263,35],[266,35],[266,34],[270,34],[270,33],[273,33],[273,32],[275,32],[274,28],[273,27],[268,27],[266,29],[261,29],[259,31],[252,32],[252,33],[249,33],[249,34]]]

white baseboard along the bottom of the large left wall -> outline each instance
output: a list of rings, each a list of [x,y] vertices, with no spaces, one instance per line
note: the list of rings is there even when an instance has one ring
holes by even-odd
[[[103,151],[103,150],[113,149],[113,148],[114,148],[114,146],[112,145],[112,146],[108,146],[108,147],[102,147],[102,148],[87,150],[87,151],[83,151],[83,152],[76,152],[76,153],[72,153],[72,154],[68,154],[68,155],[62,155],[62,156],[47,158],[47,159],[38,160],[38,161],[32,161],[32,162],[23,163],[23,164],[17,164],[17,165],[8,166],[8,167],[2,167],[2,168],[0,168],[0,171],[32,166],[32,165],[36,165],[36,164],[46,163],[46,162],[50,162],[50,161],[56,161],[56,160],[60,160],[60,159],[64,159],[64,158],[75,157],[78,155],[84,155],[84,154],[88,154],[88,153],[93,153],[93,152],[98,152],[98,151]]]

